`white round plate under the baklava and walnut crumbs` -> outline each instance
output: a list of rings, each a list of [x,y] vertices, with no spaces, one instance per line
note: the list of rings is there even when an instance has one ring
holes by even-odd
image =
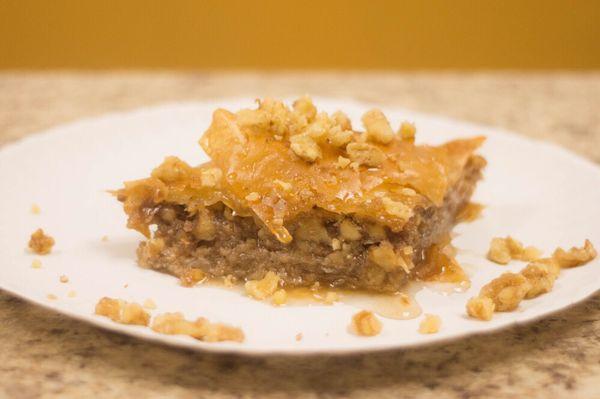
[[[372,105],[346,100],[315,99],[327,111],[342,109],[358,126]],[[600,265],[566,270],[547,295],[525,301],[512,313],[490,322],[465,316],[465,302],[479,288],[520,262],[498,266],[484,257],[494,236],[511,234],[546,253],[556,246],[581,245],[589,238],[600,245],[600,170],[577,156],[546,143],[497,129],[418,114],[384,109],[392,124],[416,122],[418,141],[486,135],[482,149],[489,161],[475,200],[487,205],[484,217],[459,225],[455,245],[466,265],[472,288],[444,296],[428,288],[416,298],[425,313],[442,318],[439,333],[417,332],[421,318],[384,319],[383,332],[373,338],[348,333],[357,308],[295,306],[275,308],[240,293],[217,287],[184,288],[169,275],[136,265],[140,236],[125,228],[121,205],[106,190],[124,180],[148,176],[165,156],[177,155],[192,164],[206,159],[197,144],[216,107],[253,106],[251,99],[210,103],[170,104],[110,114],[60,126],[0,149],[0,287],[30,301],[98,326],[168,344],[210,351],[248,354],[341,353],[401,348],[489,332],[565,308],[600,287]],[[39,204],[41,214],[30,212]],[[29,235],[43,227],[56,239],[52,254],[39,257],[41,269],[31,267],[26,251]],[[101,241],[102,236],[109,240]],[[69,282],[59,282],[66,275]],[[76,297],[68,297],[71,290]],[[58,297],[49,300],[48,294]],[[119,325],[93,315],[102,296],[143,302],[152,298],[154,313],[182,311],[188,318],[238,325],[246,342],[208,344],[185,336],[167,336],[148,328]],[[296,341],[297,333],[303,334]]]

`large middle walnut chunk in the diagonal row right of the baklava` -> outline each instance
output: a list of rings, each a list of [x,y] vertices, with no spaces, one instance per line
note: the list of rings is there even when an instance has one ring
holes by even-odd
[[[517,273],[504,273],[484,285],[479,296],[490,298],[497,312],[509,312],[519,306],[531,285],[527,279]]]

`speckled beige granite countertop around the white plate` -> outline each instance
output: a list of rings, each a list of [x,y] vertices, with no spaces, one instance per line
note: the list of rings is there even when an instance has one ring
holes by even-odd
[[[113,110],[303,93],[505,127],[600,162],[598,73],[0,73],[0,144]],[[0,290],[0,397],[41,396],[598,398],[600,294],[535,323],[432,347],[248,358],[102,331]]]

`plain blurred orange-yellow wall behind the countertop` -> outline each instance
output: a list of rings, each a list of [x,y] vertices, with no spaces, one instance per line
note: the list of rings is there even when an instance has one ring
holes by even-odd
[[[598,69],[600,1],[0,0],[0,69]]]

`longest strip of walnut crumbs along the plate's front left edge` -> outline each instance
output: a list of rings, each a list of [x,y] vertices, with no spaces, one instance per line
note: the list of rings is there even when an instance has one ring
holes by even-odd
[[[206,342],[234,341],[243,342],[244,332],[237,327],[221,323],[211,323],[201,317],[189,321],[181,313],[164,313],[152,321],[152,330],[168,335],[189,335]]]

